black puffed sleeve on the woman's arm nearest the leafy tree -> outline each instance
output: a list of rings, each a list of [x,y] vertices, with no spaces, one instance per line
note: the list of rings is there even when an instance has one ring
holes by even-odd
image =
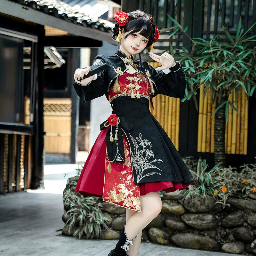
[[[174,98],[182,99],[185,95],[186,80],[183,68],[180,66],[179,62],[176,62],[176,65],[170,69],[168,74],[164,73],[163,70],[156,71],[155,68],[150,65],[150,73],[153,76],[153,79],[156,83],[156,93],[164,94]]]

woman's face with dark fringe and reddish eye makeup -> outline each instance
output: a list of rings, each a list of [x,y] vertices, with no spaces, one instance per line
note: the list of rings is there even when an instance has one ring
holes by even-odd
[[[126,34],[128,33],[129,32],[123,32],[122,38],[125,38]],[[148,38],[141,36],[139,32],[135,32],[122,40],[120,50],[124,52],[127,56],[130,56],[143,51],[147,44]]]

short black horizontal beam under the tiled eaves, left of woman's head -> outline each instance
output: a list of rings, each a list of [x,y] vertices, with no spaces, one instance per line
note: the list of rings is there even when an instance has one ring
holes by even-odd
[[[84,36],[45,36],[44,46],[83,48],[101,47],[102,41]]]

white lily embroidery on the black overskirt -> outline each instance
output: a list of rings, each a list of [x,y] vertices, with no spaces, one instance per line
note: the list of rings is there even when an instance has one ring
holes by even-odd
[[[136,175],[137,175],[137,182],[139,182],[146,176],[151,176],[153,174],[161,175],[159,172],[149,172],[149,173],[143,175],[143,172],[149,168],[156,168],[159,171],[162,171],[158,167],[153,165],[152,163],[154,163],[154,162],[162,163],[163,161],[161,159],[154,159],[151,162],[149,162],[150,161],[149,159],[151,157],[154,158],[155,156],[154,156],[154,152],[148,148],[146,149],[146,147],[151,148],[152,144],[149,140],[142,140],[141,133],[139,134],[139,138],[136,137],[136,140],[139,142],[139,144],[132,137],[131,134],[130,134],[130,137],[131,137],[132,143],[134,145],[134,152],[132,152],[132,150],[131,150],[131,155],[132,155],[132,165],[133,165],[133,167],[136,171]]]

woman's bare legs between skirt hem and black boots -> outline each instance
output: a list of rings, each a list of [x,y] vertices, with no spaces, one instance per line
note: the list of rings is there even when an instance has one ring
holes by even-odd
[[[151,192],[140,196],[141,212],[126,210],[125,233],[128,239],[133,239],[133,246],[127,252],[130,256],[137,256],[140,248],[141,230],[161,212],[162,200],[158,192]]]

